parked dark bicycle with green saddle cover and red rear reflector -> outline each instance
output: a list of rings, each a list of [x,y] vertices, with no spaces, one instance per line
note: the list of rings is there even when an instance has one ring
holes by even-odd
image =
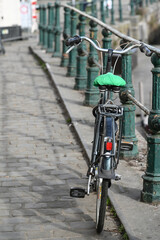
[[[111,93],[118,93],[120,88],[125,85],[125,81],[121,77],[111,73],[112,57],[113,54],[122,55],[133,48],[140,48],[147,56],[150,56],[151,52],[143,43],[131,45],[123,50],[103,49],[90,38],[77,35],[66,40],[66,45],[70,46],[67,52],[70,52],[83,40],[92,44],[97,51],[108,53],[107,74],[98,76],[94,81],[94,85],[99,87],[100,100],[93,108],[95,126],[91,161],[87,171],[87,191],[83,188],[71,188],[70,196],[84,198],[91,191],[97,191],[96,230],[97,233],[101,233],[105,221],[108,188],[111,187],[111,180],[121,179],[121,176],[115,173],[119,163],[120,150],[132,150],[133,148],[133,142],[122,142],[123,107],[114,104],[111,99]]]

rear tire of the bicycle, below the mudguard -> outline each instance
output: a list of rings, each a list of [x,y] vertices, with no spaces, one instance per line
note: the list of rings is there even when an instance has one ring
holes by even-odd
[[[96,202],[96,230],[101,233],[104,227],[106,216],[106,204],[108,197],[108,180],[99,178]]]

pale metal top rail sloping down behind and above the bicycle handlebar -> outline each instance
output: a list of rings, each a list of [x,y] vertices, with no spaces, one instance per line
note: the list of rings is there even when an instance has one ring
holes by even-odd
[[[139,41],[139,40],[137,40],[137,39],[134,39],[134,38],[132,38],[132,37],[129,37],[129,36],[127,36],[127,35],[119,32],[118,30],[116,30],[115,28],[112,28],[112,27],[109,26],[108,24],[100,21],[99,19],[97,19],[97,18],[95,18],[95,17],[93,17],[93,16],[88,15],[88,14],[85,13],[85,12],[80,11],[79,9],[77,9],[77,8],[75,8],[75,7],[72,7],[72,6],[70,6],[70,5],[68,5],[68,4],[65,4],[65,3],[60,3],[60,6],[61,6],[61,7],[67,7],[67,8],[69,8],[69,9],[74,10],[75,12],[79,13],[80,15],[83,15],[83,16],[89,18],[90,20],[93,20],[93,21],[96,22],[98,25],[100,25],[101,27],[106,28],[107,30],[109,30],[110,32],[112,32],[114,35],[116,35],[116,36],[119,37],[119,38],[122,38],[122,39],[124,39],[124,40],[126,40],[126,41],[129,41],[129,42],[133,42],[134,44],[143,43],[143,42],[141,42],[141,41]],[[157,54],[160,54],[160,49],[155,48],[155,47],[153,47],[153,46],[151,46],[151,45],[149,45],[149,44],[146,44],[146,43],[144,43],[144,44],[145,44],[151,51],[153,51],[153,52],[155,52],[155,53],[157,53]]]

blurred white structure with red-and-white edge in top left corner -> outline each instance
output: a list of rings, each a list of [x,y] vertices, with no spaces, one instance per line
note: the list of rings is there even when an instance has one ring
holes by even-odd
[[[18,37],[21,30],[38,29],[37,0],[0,0],[0,30],[2,39]]]

